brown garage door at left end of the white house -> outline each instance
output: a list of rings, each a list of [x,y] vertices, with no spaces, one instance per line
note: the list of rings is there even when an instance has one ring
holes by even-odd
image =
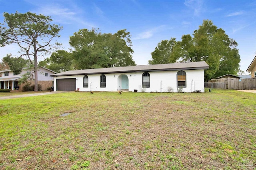
[[[57,90],[60,90],[60,91],[76,90],[76,78],[57,79]]]

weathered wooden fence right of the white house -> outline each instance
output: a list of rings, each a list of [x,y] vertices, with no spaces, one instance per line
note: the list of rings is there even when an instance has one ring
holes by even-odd
[[[221,79],[212,79],[208,82],[226,84],[226,89],[256,89],[256,78],[221,78]],[[223,87],[223,86],[222,86]]]

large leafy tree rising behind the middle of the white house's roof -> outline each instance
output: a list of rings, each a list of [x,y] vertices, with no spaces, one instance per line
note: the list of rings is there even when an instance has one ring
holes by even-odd
[[[70,37],[73,61],[77,69],[135,65],[132,60],[130,33],[126,29],[115,34],[98,29],[81,29]]]

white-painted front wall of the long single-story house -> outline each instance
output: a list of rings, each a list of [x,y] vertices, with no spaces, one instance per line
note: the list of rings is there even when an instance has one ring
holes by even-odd
[[[204,70],[184,70],[186,72],[186,88],[183,88],[183,92],[192,92],[192,80],[194,80],[195,90],[201,90],[204,92]],[[160,83],[163,83],[163,92],[167,92],[168,87],[172,87],[174,92],[177,92],[177,72],[175,71],[158,71],[148,72],[150,74],[150,88],[146,88],[146,92],[161,92]],[[129,80],[129,91],[134,89],[141,92],[142,86],[142,74],[144,72],[130,72],[123,73]],[[89,85],[88,88],[83,87],[84,75],[77,76],[58,76],[54,77],[54,90],[56,90],[56,79],[61,78],[76,78],[76,89],[80,88],[80,91],[90,92],[90,84],[92,83],[92,91],[116,91],[120,90],[121,75],[122,73],[105,74],[106,76],[106,88],[100,88],[100,75],[101,74],[88,74]]]

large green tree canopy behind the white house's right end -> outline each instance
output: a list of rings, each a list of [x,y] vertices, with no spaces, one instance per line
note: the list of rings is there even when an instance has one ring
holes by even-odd
[[[206,61],[210,67],[205,70],[205,80],[210,80],[224,74],[237,74],[240,63],[237,45],[223,29],[217,28],[210,20],[204,20],[193,37],[188,34],[183,35],[181,41],[171,38],[158,43],[148,63]]]

